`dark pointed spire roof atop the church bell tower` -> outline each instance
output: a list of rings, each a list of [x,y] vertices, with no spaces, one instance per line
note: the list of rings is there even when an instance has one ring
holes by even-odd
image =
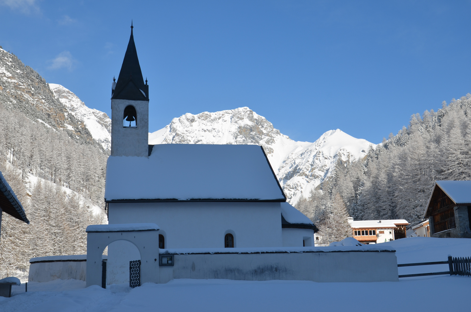
[[[118,82],[113,92],[112,99],[149,100],[149,86],[144,84],[141,66],[139,66],[138,53],[134,44],[134,36],[129,38],[128,49],[124,54]]]

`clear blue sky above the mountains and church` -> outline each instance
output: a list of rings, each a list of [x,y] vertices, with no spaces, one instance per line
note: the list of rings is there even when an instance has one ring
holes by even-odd
[[[381,142],[471,92],[470,1],[0,0],[0,45],[111,113],[130,22],[149,131],[250,107],[293,140]]]

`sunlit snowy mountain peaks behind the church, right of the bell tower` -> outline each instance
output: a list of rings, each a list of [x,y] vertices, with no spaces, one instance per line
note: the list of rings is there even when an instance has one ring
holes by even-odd
[[[294,141],[248,107],[173,118],[165,128],[149,133],[149,144],[162,143],[261,145],[291,204],[303,193],[309,196],[339,160],[364,157],[373,145],[339,129],[325,132],[314,143]]]

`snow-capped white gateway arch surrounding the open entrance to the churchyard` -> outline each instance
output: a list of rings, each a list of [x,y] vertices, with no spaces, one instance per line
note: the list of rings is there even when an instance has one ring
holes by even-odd
[[[155,223],[89,225],[87,232],[87,287],[101,286],[101,255],[117,240],[134,244],[141,255],[141,284],[159,282],[159,227]]]

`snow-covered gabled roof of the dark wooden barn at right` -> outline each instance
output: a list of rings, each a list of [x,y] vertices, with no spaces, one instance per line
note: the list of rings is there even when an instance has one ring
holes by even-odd
[[[435,185],[430,193],[429,202],[427,203],[427,208],[423,214],[424,218],[428,215],[427,213],[430,207],[430,201],[432,200],[437,187],[447,194],[447,196],[450,197],[456,205],[471,205],[471,181],[435,181]]]

